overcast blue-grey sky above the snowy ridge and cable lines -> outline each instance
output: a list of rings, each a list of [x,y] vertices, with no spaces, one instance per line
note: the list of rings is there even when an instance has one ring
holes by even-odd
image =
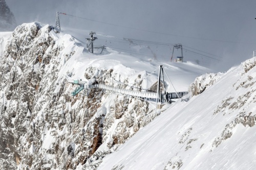
[[[55,25],[56,11],[59,11],[140,29],[144,31],[60,16],[62,27],[117,37],[182,43],[221,56],[221,62],[211,62],[211,66],[218,71],[225,71],[251,58],[256,50],[256,1],[253,0],[6,0],[6,3],[18,25],[32,21]],[[184,52],[187,58],[193,55]],[[201,58],[204,60],[205,57]]]

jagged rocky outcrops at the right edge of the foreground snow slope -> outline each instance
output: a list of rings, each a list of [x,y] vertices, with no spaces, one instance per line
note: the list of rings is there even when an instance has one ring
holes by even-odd
[[[241,64],[244,71],[242,71],[242,76],[250,71],[256,65],[256,58],[246,60]],[[212,143],[212,147],[218,147],[223,140],[226,140],[232,136],[232,131],[239,124],[242,124],[244,127],[255,126],[256,115],[251,111],[247,111],[248,108],[252,107],[256,103],[256,89],[253,88],[254,83],[256,82],[253,79],[254,73],[251,72],[247,76],[243,76],[236,83],[233,84],[233,88],[236,89],[239,96],[227,96],[225,100],[222,101],[221,105],[218,105],[217,109],[214,111],[214,114],[233,114],[236,113],[230,123],[228,123],[219,137],[217,137]],[[231,95],[231,94],[230,94]],[[243,108],[243,109],[242,109]],[[239,112],[238,112],[239,110]],[[249,110],[249,109],[248,109]]]

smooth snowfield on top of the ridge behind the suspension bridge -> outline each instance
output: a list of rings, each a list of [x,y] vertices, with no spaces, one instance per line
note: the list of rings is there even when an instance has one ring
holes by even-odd
[[[146,83],[143,83],[143,88],[146,89],[157,81],[158,67],[159,65],[163,65],[176,90],[187,91],[189,84],[193,82],[196,77],[205,74],[206,72],[212,72],[212,70],[193,64],[190,61],[184,63],[171,63],[169,59],[166,58],[152,59],[150,56],[130,55],[130,53],[125,52],[120,53],[113,50],[111,46],[104,50],[105,54],[103,55],[99,55],[97,52],[95,52],[96,54],[91,54],[88,50],[84,49],[84,47],[86,47],[86,42],[80,41],[87,37],[86,34],[88,32],[89,31],[62,28],[62,31],[58,35],[60,39],[56,41],[55,45],[60,44],[60,42],[65,42],[62,45],[67,48],[68,46],[72,46],[75,42],[76,46],[73,48],[67,48],[67,51],[76,51],[76,53],[63,63],[63,67],[61,68],[58,77],[61,77],[61,75],[68,76],[67,73],[69,73],[69,75],[72,73],[71,77],[68,76],[69,78],[74,80],[84,80],[85,68],[93,66],[98,69],[113,69],[113,74],[117,75],[116,81],[123,83],[127,78],[129,78],[129,80],[127,80],[128,82],[134,82],[133,80],[143,72],[141,76],[146,79]],[[73,36],[68,36],[66,33]],[[134,48],[140,46],[137,44],[133,45],[134,46],[132,47]],[[156,71],[152,76],[146,76],[150,75],[154,70]],[[175,90],[172,85],[170,85],[167,79],[165,81],[168,87],[167,91],[174,92]]]

